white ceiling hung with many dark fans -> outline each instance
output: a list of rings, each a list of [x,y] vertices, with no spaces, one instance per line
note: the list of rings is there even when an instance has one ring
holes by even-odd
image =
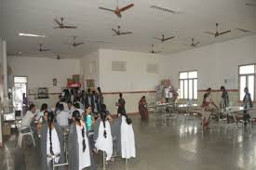
[[[7,40],[7,53],[23,52],[24,56],[53,57],[52,52],[39,53],[40,43],[68,58],[85,56],[98,48],[112,48],[149,52],[151,45],[164,54],[191,48],[191,38],[200,41],[200,46],[248,36],[237,27],[256,32],[256,7],[246,6],[256,0],[119,0],[124,7],[134,3],[134,7],[118,19],[113,13],[98,7],[115,8],[116,0],[1,0],[0,37]],[[150,8],[165,7],[181,11],[171,14]],[[64,17],[64,23],[75,25],[76,30],[56,30],[54,19]],[[220,30],[231,33],[213,38],[204,32],[215,32],[215,23]],[[111,28],[121,25],[123,31],[131,35],[113,36]],[[46,38],[20,37],[19,33],[45,34]],[[152,37],[175,35],[176,38],[159,43]],[[78,41],[90,41],[86,45],[67,46],[72,36]],[[110,41],[102,44],[93,41]],[[92,41],[92,42],[91,42]]]

